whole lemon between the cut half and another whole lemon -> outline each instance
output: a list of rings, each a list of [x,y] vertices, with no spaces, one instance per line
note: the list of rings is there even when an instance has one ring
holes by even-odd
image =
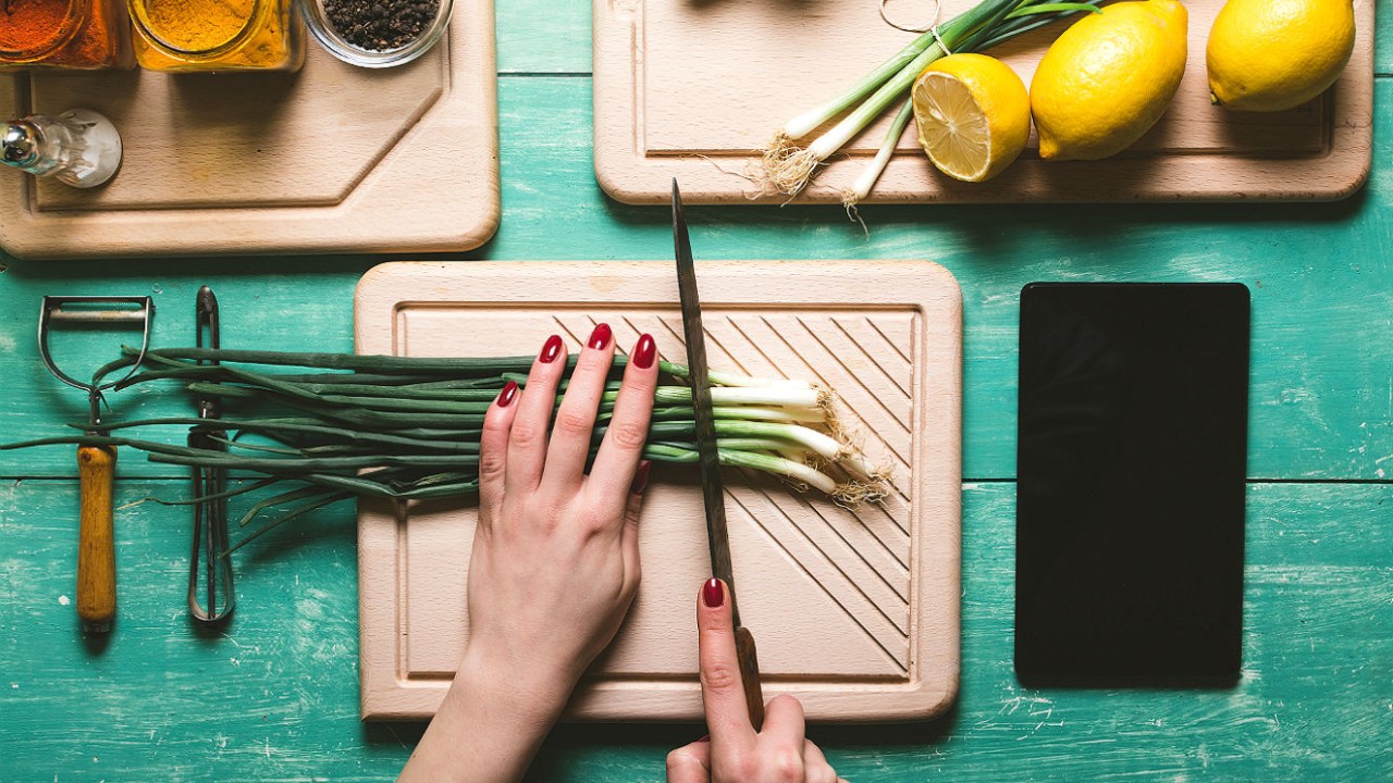
[[[1188,14],[1176,0],[1116,3],[1074,22],[1031,81],[1041,157],[1098,160],[1139,139],[1185,72]]]

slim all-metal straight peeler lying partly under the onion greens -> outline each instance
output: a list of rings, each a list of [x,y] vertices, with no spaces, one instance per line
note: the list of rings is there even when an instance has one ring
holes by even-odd
[[[217,319],[217,297],[203,286],[194,305],[195,344],[199,348],[221,347]],[[205,346],[206,339],[206,346]],[[198,362],[217,365],[217,359]],[[227,432],[212,426],[223,415],[216,396],[198,397],[198,418],[209,422],[188,431],[192,449],[227,450]],[[194,620],[216,624],[233,613],[237,594],[233,592],[233,563],[227,557],[227,470],[194,467],[194,545],[188,564],[188,613]],[[201,596],[206,599],[201,603]]]

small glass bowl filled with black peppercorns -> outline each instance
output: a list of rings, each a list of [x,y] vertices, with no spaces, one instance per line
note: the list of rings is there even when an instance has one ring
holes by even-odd
[[[330,54],[361,68],[404,65],[430,50],[450,26],[453,0],[295,0],[305,29]],[[429,15],[435,6],[435,15]],[[418,17],[400,32],[394,15]],[[336,24],[337,22],[337,24]],[[362,24],[358,24],[362,22]]]

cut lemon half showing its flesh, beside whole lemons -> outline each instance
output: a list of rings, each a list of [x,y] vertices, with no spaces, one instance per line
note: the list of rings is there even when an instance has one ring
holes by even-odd
[[[919,74],[911,92],[919,145],[949,177],[1000,174],[1031,135],[1031,96],[1010,65],[985,54],[950,54]]]

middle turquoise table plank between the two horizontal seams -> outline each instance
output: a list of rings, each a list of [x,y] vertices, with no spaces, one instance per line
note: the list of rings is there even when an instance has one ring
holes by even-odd
[[[471,254],[496,261],[664,258],[667,213],[606,202],[586,148],[589,84],[506,78],[508,222]],[[1393,82],[1380,79],[1379,150],[1393,153]],[[1300,205],[869,206],[871,234],[840,208],[696,208],[702,258],[932,255],[963,284],[967,323],[964,475],[1015,475],[1015,325],[1031,280],[1238,280],[1252,290],[1251,478],[1393,476],[1393,178],[1376,171],[1353,199]],[[238,259],[235,265],[15,262],[0,273],[0,440],[53,435],[85,417],[81,394],[39,365],[43,294],[142,294],[159,302],[156,344],[192,339],[201,283],[217,288],[230,346],[351,351],[351,301],[372,259]],[[106,347],[82,358],[100,364]],[[113,396],[116,415],[182,411],[160,394]],[[171,475],[123,458],[120,475]],[[0,475],[75,475],[68,449],[0,451]]]

